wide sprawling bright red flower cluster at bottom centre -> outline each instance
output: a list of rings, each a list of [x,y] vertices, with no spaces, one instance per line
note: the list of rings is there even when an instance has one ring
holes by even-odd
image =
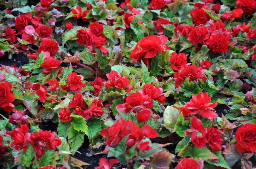
[[[107,136],[108,139],[106,144],[113,147],[115,147],[123,138],[129,135],[128,139],[126,140],[127,147],[131,148],[137,144],[137,149],[144,153],[144,151],[152,148],[148,146],[149,141],[142,142],[143,138],[156,138],[158,133],[148,124],[146,124],[143,128],[139,128],[139,126],[137,126],[134,122],[130,120],[125,121],[122,119],[116,121],[112,127],[103,129],[101,135]]]

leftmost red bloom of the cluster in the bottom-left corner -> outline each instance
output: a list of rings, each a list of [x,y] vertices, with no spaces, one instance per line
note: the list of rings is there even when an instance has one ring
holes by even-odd
[[[26,124],[20,124],[20,128],[15,128],[12,131],[12,146],[15,146],[16,150],[21,150],[28,146],[29,127]]]

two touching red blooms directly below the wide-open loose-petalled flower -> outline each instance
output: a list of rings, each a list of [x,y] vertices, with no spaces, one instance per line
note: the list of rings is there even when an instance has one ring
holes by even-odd
[[[192,130],[191,141],[195,146],[203,148],[208,143],[213,151],[221,150],[223,139],[217,128],[209,127],[205,130],[202,121],[193,116],[190,129]],[[198,136],[198,133],[201,135]]]

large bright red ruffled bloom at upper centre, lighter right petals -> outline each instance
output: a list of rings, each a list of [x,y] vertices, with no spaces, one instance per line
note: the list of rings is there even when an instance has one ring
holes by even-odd
[[[145,59],[153,58],[157,56],[157,52],[166,50],[166,36],[148,36],[141,39],[135,49],[131,52],[130,57],[133,59],[132,62],[141,60],[144,56]]]

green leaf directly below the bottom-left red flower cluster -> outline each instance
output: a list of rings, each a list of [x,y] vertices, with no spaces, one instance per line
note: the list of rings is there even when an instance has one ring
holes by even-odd
[[[22,151],[20,153],[19,157],[20,157],[19,163],[22,166],[26,166],[26,167],[30,166],[30,164],[32,163],[33,158],[35,157],[35,151],[34,151],[33,147],[31,146],[31,144],[29,144],[26,152]]]

